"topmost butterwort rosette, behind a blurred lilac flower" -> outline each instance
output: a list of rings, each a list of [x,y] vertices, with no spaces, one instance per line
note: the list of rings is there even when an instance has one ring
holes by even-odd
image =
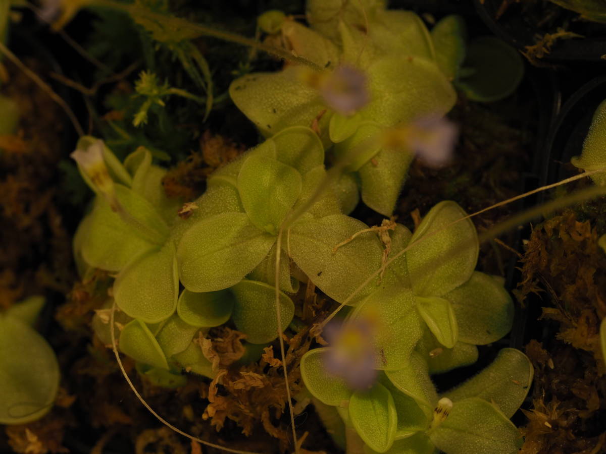
[[[277,33],[294,54],[322,68],[316,74],[320,80],[330,80],[343,67],[362,71],[368,104],[356,112],[340,111],[327,101],[328,89],[305,82],[306,70],[293,65],[237,79],[230,86],[231,98],[264,136],[317,123],[324,145],[334,145],[335,155],[347,163],[347,174],[358,181],[364,203],[390,215],[413,150],[387,148],[382,134],[419,117],[442,116],[453,107],[456,93],[449,79],[460,64],[460,51],[436,48],[419,16],[385,10],[384,2],[312,1],[307,15],[311,28],[285,19]],[[455,55],[445,56],[451,53]]]

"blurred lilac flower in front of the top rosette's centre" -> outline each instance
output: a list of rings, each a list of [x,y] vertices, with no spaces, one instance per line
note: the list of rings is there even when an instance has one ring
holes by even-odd
[[[351,115],[370,101],[366,74],[358,68],[341,65],[322,77],[319,90],[332,110]]]

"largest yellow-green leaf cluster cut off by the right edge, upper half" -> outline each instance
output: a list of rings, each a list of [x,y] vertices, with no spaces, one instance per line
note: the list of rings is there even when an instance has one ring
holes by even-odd
[[[606,100],[593,114],[581,156],[571,159],[574,166],[586,171],[606,168]],[[596,185],[606,185],[606,172],[591,175]]]

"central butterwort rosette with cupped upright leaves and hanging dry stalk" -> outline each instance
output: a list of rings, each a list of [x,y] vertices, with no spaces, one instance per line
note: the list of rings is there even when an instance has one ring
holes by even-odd
[[[298,283],[290,271],[296,266],[325,294],[345,300],[379,269],[382,247],[378,237],[369,233],[333,254],[335,245],[367,226],[342,214],[342,206],[350,204],[347,199],[355,197],[351,191],[328,185],[318,192],[325,176],[322,143],[304,127],[286,128],[212,174],[207,192],[195,202],[199,209],[183,223],[177,248],[185,289],[221,291],[244,278],[273,285],[276,240],[288,222],[281,242],[279,289],[296,291]],[[291,218],[296,212],[301,215]],[[256,306],[234,310],[240,331],[245,325],[269,327],[268,314],[275,311],[273,289],[271,293]],[[287,301],[282,314],[291,317],[292,302],[282,297]],[[288,323],[290,318],[282,326]]]

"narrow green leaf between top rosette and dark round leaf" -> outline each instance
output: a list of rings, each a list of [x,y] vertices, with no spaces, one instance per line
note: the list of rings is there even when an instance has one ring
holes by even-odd
[[[436,61],[449,81],[456,79],[465,59],[467,28],[461,16],[450,15],[440,19],[431,30],[436,47]]]

